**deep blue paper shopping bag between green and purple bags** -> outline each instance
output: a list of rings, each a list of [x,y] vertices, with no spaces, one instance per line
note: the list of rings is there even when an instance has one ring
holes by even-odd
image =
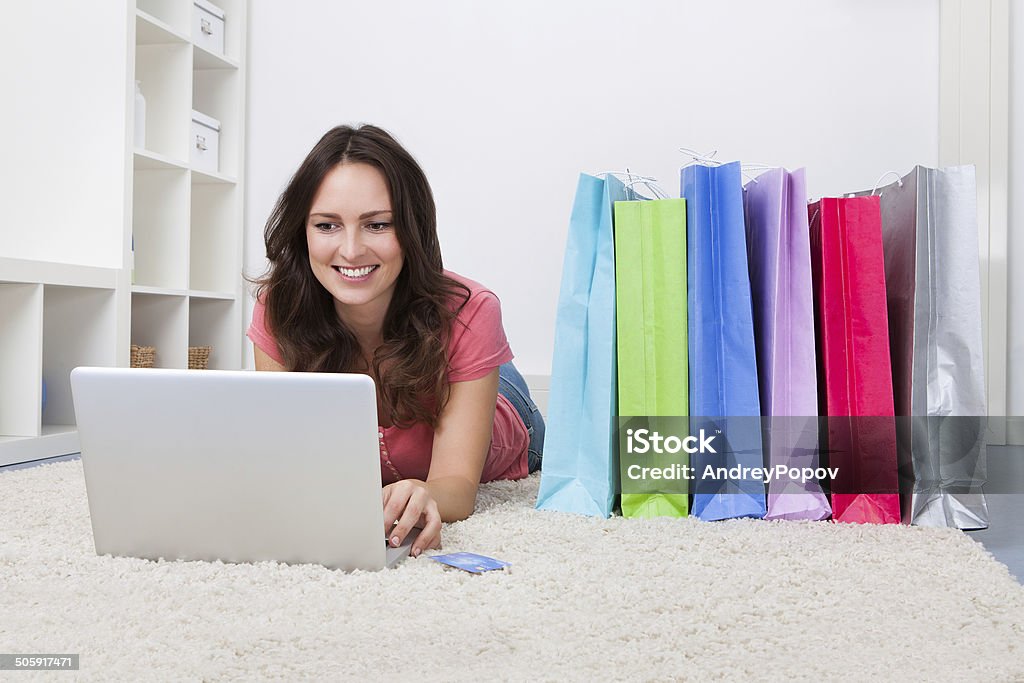
[[[690,431],[721,436],[694,453],[693,514],[763,517],[758,369],[739,163],[687,166],[686,282]],[[753,418],[753,419],[752,419]]]

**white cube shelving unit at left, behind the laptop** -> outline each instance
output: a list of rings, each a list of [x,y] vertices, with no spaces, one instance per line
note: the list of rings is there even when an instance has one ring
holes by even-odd
[[[140,344],[161,368],[186,368],[201,345],[210,368],[242,367],[248,0],[214,4],[224,54],[193,41],[191,0],[20,5],[14,24],[55,27],[61,47],[13,84],[26,120],[9,128],[23,134],[5,164],[49,182],[15,184],[0,218],[0,466],[78,451],[78,366],[127,367]],[[23,33],[0,38],[37,53]],[[132,143],[136,80],[143,147]],[[78,128],[60,93],[83,104]],[[220,121],[216,171],[191,168],[193,110]]]

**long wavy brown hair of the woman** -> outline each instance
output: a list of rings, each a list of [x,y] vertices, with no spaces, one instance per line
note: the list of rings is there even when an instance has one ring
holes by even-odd
[[[369,370],[355,335],[338,317],[334,297],[313,275],[306,222],[324,177],[343,163],[364,163],[384,175],[404,264],[384,316],[384,342],[373,374],[382,410],[398,427],[431,427],[449,398],[447,340],[469,289],[443,273],[430,184],[416,160],[376,126],[329,130],[299,166],[266,222],[270,261],[254,281],[266,325],[291,371]],[[383,416],[381,416],[383,417]]]

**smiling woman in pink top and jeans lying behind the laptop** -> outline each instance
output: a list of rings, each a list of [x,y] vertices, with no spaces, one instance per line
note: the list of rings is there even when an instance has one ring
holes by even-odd
[[[433,195],[374,126],[334,128],[265,230],[248,336],[256,369],[364,373],[377,385],[386,538],[418,556],[477,486],[541,466],[544,421],[511,364],[498,297],[441,265]]]

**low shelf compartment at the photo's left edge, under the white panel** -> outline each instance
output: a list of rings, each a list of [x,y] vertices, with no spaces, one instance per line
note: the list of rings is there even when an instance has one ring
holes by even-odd
[[[38,436],[43,390],[43,286],[0,284],[0,434]]]

